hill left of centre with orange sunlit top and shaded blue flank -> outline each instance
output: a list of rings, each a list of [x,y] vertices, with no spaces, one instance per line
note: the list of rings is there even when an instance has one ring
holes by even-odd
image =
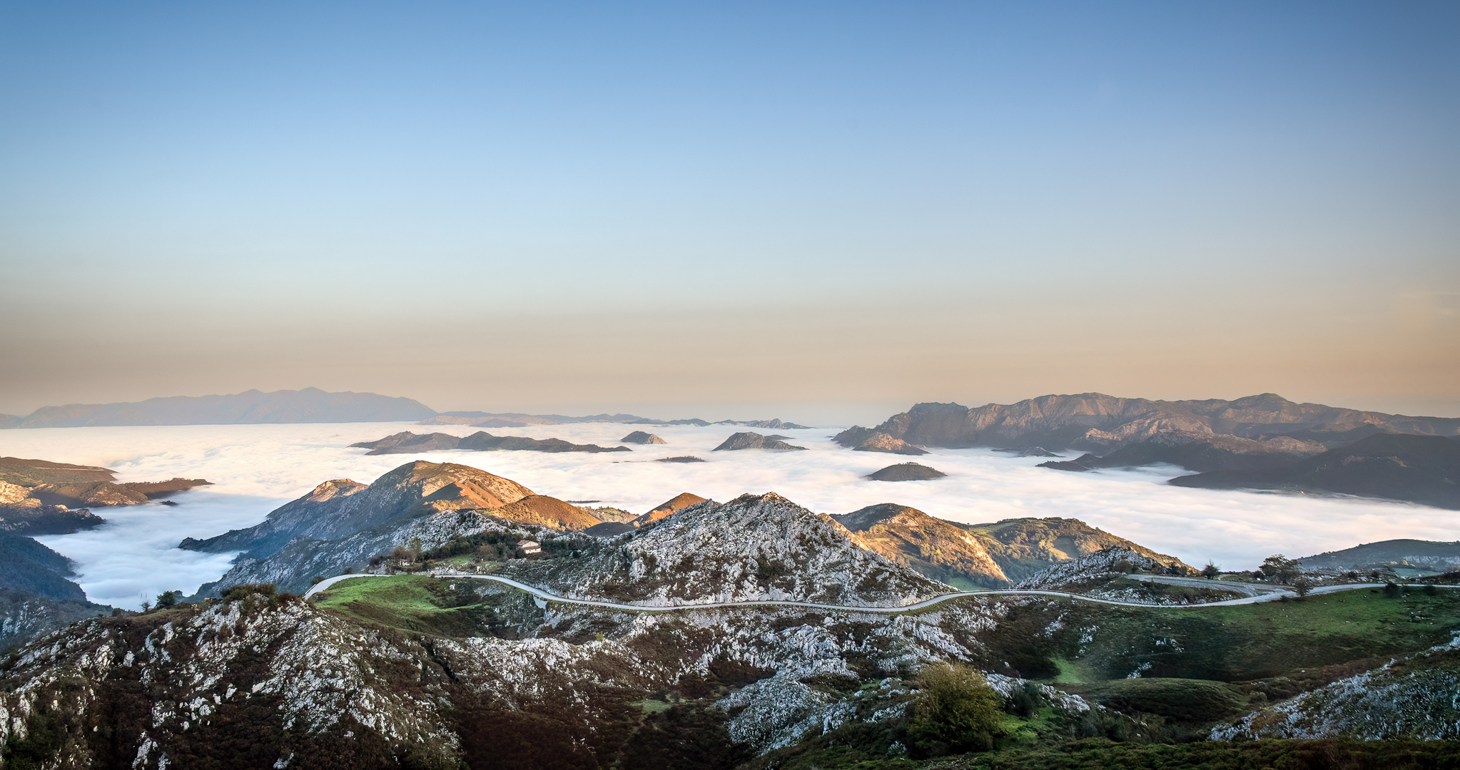
[[[193,551],[247,551],[248,559],[274,554],[295,538],[339,540],[394,519],[434,510],[495,509],[534,494],[533,490],[483,470],[450,462],[407,462],[369,486],[340,478],[286,503],[247,529],[207,540],[184,540]]]

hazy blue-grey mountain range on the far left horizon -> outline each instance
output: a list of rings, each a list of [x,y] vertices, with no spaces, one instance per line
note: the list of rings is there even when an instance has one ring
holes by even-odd
[[[260,423],[383,423],[423,420],[435,410],[412,398],[369,392],[244,391],[174,395],[121,404],[41,407],[29,416],[0,416],[0,427],[174,426]]]

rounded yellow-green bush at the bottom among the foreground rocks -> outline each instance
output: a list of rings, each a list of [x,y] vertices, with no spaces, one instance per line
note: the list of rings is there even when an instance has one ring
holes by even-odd
[[[983,674],[964,664],[933,664],[918,672],[917,687],[908,723],[914,741],[946,744],[953,751],[993,748],[1003,709]]]

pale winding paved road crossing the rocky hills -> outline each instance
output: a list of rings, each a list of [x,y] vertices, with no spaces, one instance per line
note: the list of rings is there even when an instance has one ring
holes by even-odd
[[[699,602],[699,604],[676,604],[676,605],[666,605],[666,607],[651,607],[651,605],[642,605],[642,604],[618,604],[618,602],[609,602],[609,601],[574,599],[574,598],[568,598],[568,596],[559,596],[556,594],[549,594],[549,592],[546,592],[546,591],[543,591],[543,589],[540,589],[537,586],[530,586],[527,583],[520,583],[517,580],[512,580],[511,578],[501,578],[501,576],[496,576],[496,575],[474,575],[474,573],[469,573],[469,572],[444,572],[444,570],[437,570],[437,572],[432,572],[431,576],[432,578],[467,578],[467,579],[473,579],[473,580],[493,580],[493,582],[498,582],[498,583],[504,583],[504,585],[512,586],[512,588],[515,588],[518,591],[526,591],[527,594],[531,594],[533,599],[537,601],[539,607],[546,607],[546,602],[553,601],[553,602],[562,602],[562,604],[575,604],[575,605],[581,605],[581,607],[599,607],[599,608],[603,608],[603,610],[623,610],[623,611],[629,611],[629,612],[663,612],[666,610],[720,610],[720,608],[733,608],[733,607],[803,607],[806,610],[829,610],[829,611],[841,611],[841,612],[882,612],[882,614],[894,614],[894,612],[908,612],[908,611],[914,611],[914,610],[923,610],[923,608],[927,608],[927,607],[933,607],[934,604],[942,604],[945,601],[959,599],[959,598],[964,598],[964,596],[997,596],[997,595],[1063,596],[1063,598],[1069,598],[1069,599],[1080,599],[1080,601],[1088,601],[1088,602],[1095,602],[1095,604],[1114,604],[1117,607],[1142,607],[1142,608],[1146,608],[1146,610],[1150,610],[1150,608],[1162,608],[1162,610],[1196,610],[1196,608],[1200,608],[1200,607],[1231,607],[1231,605],[1237,605],[1237,604],[1257,604],[1257,602],[1278,601],[1278,599],[1280,599],[1283,596],[1289,596],[1289,598],[1291,596],[1296,596],[1296,594],[1292,592],[1292,591],[1278,589],[1275,586],[1264,586],[1264,585],[1260,585],[1260,583],[1231,583],[1231,582],[1223,582],[1223,583],[1221,583],[1222,588],[1240,585],[1240,586],[1244,586],[1244,589],[1253,589],[1254,594],[1248,595],[1248,596],[1242,596],[1240,599],[1226,599],[1226,601],[1219,601],[1219,602],[1207,602],[1207,604],[1169,604],[1168,605],[1168,604],[1139,604],[1139,602],[1123,602],[1123,601],[1114,601],[1114,599],[1098,599],[1095,596],[1082,596],[1079,594],[1066,594],[1063,591],[1029,591],[1029,589],[1015,589],[1015,588],[1010,588],[1010,589],[1003,589],[1003,591],[959,591],[959,592],[955,592],[955,594],[943,594],[943,595],[939,595],[939,596],[933,596],[931,599],[923,599],[923,601],[920,601],[917,604],[905,604],[905,605],[901,605],[901,607],[861,607],[861,605],[845,605],[845,604],[818,604],[818,602],[777,601],[777,599],[748,599],[748,601],[729,601],[729,602]],[[310,596],[318,594],[320,591],[324,591],[324,589],[330,588],[331,585],[334,585],[334,583],[337,583],[340,580],[368,579],[368,578],[384,578],[384,576],[383,575],[340,575],[340,576],[330,578],[327,580],[320,582],[318,585],[315,585],[314,588],[311,588],[305,594],[305,598],[310,598]],[[1156,575],[1142,575],[1142,576],[1133,576],[1133,578],[1145,579],[1145,580],[1150,580],[1150,582],[1162,582],[1162,583],[1171,582],[1172,585],[1187,585],[1186,582],[1181,582],[1181,580],[1190,580],[1190,579],[1186,579],[1186,578],[1162,578],[1162,576],[1156,576]],[[1203,588],[1210,588],[1212,583],[1215,583],[1215,580],[1204,580],[1203,579],[1202,583],[1196,583],[1196,585],[1202,585]],[[1383,588],[1383,583],[1352,583],[1352,585],[1323,586],[1323,588],[1314,588],[1308,594],[1310,595],[1334,594],[1334,592],[1339,592],[1339,591],[1358,591],[1358,589],[1364,589],[1364,588]],[[1440,588],[1460,588],[1460,586],[1440,586]],[[1266,592],[1264,594],[1256,594],[1256,591],[1266,591]]]

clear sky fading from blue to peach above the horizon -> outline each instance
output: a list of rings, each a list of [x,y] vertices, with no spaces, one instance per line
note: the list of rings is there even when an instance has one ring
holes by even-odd
[[[0,413],[1460,416],[1454,3],[0,4]]]

